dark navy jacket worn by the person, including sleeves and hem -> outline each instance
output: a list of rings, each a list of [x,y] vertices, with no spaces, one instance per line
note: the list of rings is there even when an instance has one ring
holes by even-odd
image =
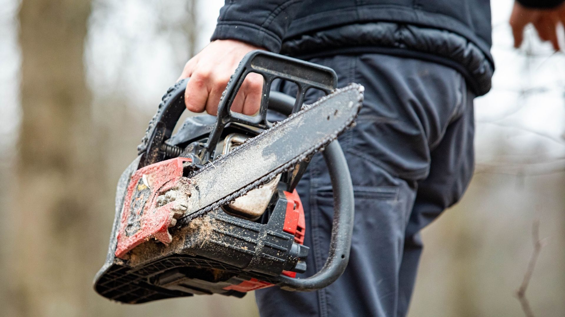
[[[563,0],[520,0],[552,7]],[[299,58],[377,52],[446,64],[490,89],[489,0],[226,0],[214,39]]]

